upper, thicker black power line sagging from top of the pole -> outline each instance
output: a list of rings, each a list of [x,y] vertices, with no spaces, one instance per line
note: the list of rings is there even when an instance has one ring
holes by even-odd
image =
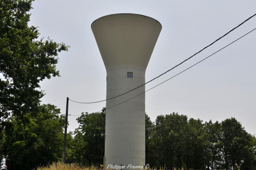
[[[245,23],[246,21],[248,21],[249,19],[251,19],[251,18],[254,17],[255,15],[256,15],[256,14],[254,14],[253,16],[247,18],[247,19],[244,20],[242,23],[240,23],[237,27],[233,28],[232,30],[230,30],[229,32],[227,32],[226,34],[224,34],[223,36],[219,37],[218,39],[216,39],[215,41],[213,41],[213,43],[211,43],[210,45],[204,47],[202,50],[198,51],[197,53],[193,54],[192,56],[190,56],[189,58],[187,58],[186,60],[184,60],[184,61],[181,62],[180,64],[174,66],[173,68],[167,70],[166,72],[164,72],[164,73],[158,75],[158,76],[155,77],[154,79],[152,79],[152,80],[150,80],[150,81],[148,81],[148,82],[146,82],[146,83],[144,83],[144,84],[142,84],[142,85],[140,85],[140,86],[138,86],[138,87],[136,87],[136,88],[134,88],[134,89],[131,89],[131,90],[129,90],[129,91],[123,93],[123,94],[120,94],[120,95],[118,95],[118,96],[115,96],[115,97],[112,97],[112,98],[109,98],[109,99],[105,99],[105,100],[101,100],[101,101],[97,101],[97,102],[77,102],[77,101],[74,101],[74,100],[71,100],[71,99],[69,99],[69,100],[72,101],[72,102],[76,102],[76,103],[90,104],[90,103],[99,103],[99,102],[107,101],[107,100],[114,99],[114,98],[117,98],[117,97],[119,97],[119,96],[125,95],[125,94],[127,94],[128,92],[131,92],[131,91],[133,91],[133,90],[135,90],[135,89],[137,89],[137,88],[139,88],[139,87],[144,86],[145,84],[147,84],[147,83],[149,83],[149,82],[152,82],[153,80],[159,78],[159,77],[162,76],[163,74],[166,74],[167,72],[171,71],[172,69],[176,68],[177,66],[181,65],[182,63],[186,62],[186,61],[189,60],[190,58],[194,57],[196,54],[200,53],[200,52],[203,51],[204,49],[206,49],[206,48],[210,47],[211,45],[213,45],[214,43],[216,43],[216,42],[217,42],[218,40],[220,40],[221,38],[223,38],[223,37],[225,37],[226,35],[228,35],[228,34],[229,34],[230,32],[232,32],[233,30],[235,30],[235,29],[237,29],[238,27],[240,27],[243,23]]]

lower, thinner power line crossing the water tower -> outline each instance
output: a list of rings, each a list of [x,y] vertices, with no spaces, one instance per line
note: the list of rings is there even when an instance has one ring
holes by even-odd
[[[253,32],[254,30],[256,30],[256,28],[255,28],[255,29],[253,29],[252,31],[250,31],[250,32],[248,32],[248,33],[246,33],[246,34],[244,34],[243,36],[241,36],[241,37],[237,38],[236,40],[232,41],[231,43],[229,43],[229,44],[228,44],[228,45],[226,45],[225,47],[223,47],[223,48],[219,49],[218,51],[216,51],[216,52],[212,53],[212,54],[211,54],[211,55],[209,55],[208,57],[205,57],[203,60],[200,60],[200,61],[199,61],[199,62],[197,62],[196,64],[194,64],[194,65],[192,65],[192,66],[188,67],[187,69],[185,69],[185,70],[183,70],[183,71],[179,72],[178,74],[174,75],[173,77],[171,77],[171,78],[169,78],[169,79],[167,79],[167,80],[165,80],[165,81],[163,81],[163,82],[159,83],[158,85],[156,85],[156,86],[154,86],[154,87],[152,87],[152,88],[150,88],[150,89],[148,89],[148,90],[146,90],[146,91],[144,91],[144,92],[142,92],[142,93],[140,93],[140,94],[138,94],[138,95],[136,95],[136,96],[134,96],[134,97],[132,97],[132,98],[130,98],[130,99],[127,99],[127,100],[125,100],[125,101],[123,101],[123,102],[121,102],[121,103],[115,104],[115,105],[113,105],[113,106],[111,106],[111,107],[108,107],[108,108],[106,108],[106,109],[109,109],[109,108],[115,107],[115,106],[117,106],[117,105],[119,105],[119,104],[122,104],[122,103],[124,103],[124,102],[127,102],[128,100],[131,100],[131,99],[133,99],[133,98],[136,98],[137,96],[140,96],[140,95],[144,94],[145,92],[147,92],[147,91],[149,91],[149,90],[151,90],[151,89],[153,89],[153,88],[155,88],[155,87],[157,87],[157,86],[159,86],[159,85],[161,85],[161,84],[163,84],[163,83],[167,82],[168,80],[170,80],[170,79],[172,79],[172,78],[176,77],[177,75],[179,75],[179,74],[183,73],[184,71],[186,71],[186,70],[190,69],[191,67],[194,67],[195,65],[197,65],[197,64],[201,63],[202,61],[206,60],[206,59],[207,59],[207,58],[209,58],[210,56],[212,56],[212,55],[216,54],[217,52],[219,52],[219,51],[223,50],[224,48],[226,48],[226,47],[228,47],[229,45],[233,44],[234,42],[236,42],[237,40],[241,39],[241,38],[242,38],[242,37],[244,37],[245,35],[247,35],[247,34],[249,34],[249,33]],[[101,112],[101,111],[98,111],[98,112]],[[93,112],[93,113],[97,113],[97,112]],[[81,116],[81,115],[74,115],[74,116]]]

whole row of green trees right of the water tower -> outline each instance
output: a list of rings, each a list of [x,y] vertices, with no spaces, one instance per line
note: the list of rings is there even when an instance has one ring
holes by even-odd
[[[256,139],[230,118],[219,123],[172,113],[146,117],[146,163],[151,167],[256,169]],[[148,127],[148,124],[150,128]]]

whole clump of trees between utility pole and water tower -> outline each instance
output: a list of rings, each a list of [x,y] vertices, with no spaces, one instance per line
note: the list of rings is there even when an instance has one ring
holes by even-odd
[[[105,115],[106,110],[103,108],[102,112],[82,113],[76,119],[80,125],[74,133],[73,141],[68,141],[68,148],[74,149],[71,152],[73,154],[67,157],[68,162],[79,162],[87,166],[103,164]]]

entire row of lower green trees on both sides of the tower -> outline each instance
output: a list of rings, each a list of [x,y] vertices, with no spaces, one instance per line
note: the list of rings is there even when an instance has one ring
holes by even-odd
[[[65,117],[47,104],[37,114],[12,117],[1,131],[0,157],[9,169],[32,169],[61,161]],[[82,113],[80,126],[67,136],[67,163],[103,164],[105,108]],[[202,122],[172,113],[145,116],[146,164],[194,169],[256,169],[256,138],[235,118]]]

